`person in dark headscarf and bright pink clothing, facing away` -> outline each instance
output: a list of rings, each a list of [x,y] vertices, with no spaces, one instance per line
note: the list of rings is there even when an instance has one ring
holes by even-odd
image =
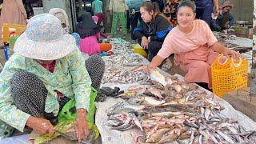
[[[82,22],[79,22],[76,27],[76,33],[80,35],[80,50],[85,54],[100,53],[100,46],[98,43],[100,36],[100,27],[96,25],[91,14],[84,12],[81,16]]]

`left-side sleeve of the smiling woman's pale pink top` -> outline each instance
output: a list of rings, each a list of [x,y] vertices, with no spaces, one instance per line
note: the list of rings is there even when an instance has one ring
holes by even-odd
[[[171,42],[171,36],[168,34],[166,36],[165,41],[162,44],[162,48],[158,51],[158,56],[165,59],[170,56],[170,54],[174,54],[174,46]]]

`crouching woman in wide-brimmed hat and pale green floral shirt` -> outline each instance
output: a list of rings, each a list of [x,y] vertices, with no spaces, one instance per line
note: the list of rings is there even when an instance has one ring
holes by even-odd
[[[70,98],[76,102],[76,134],[79,140],[86,138],[92,81],[74,38],[64,33],[58,18],[31,18],[14,52],[0,74],[0,138],[25,126],[54,134],[49,120]]]

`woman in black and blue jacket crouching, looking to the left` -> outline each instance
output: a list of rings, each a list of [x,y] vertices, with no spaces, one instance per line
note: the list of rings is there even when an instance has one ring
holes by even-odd
[[[148,60],[152,58],[162,47],[162,43],[166,38],[166,34],[172,30],[172,26],[167,18],[160,14],[158,4],[152,2],[144,2],[140,8],[142,14],[141,26],[134,29],[134,40],[138,39],[138,43],[148,53]]]

